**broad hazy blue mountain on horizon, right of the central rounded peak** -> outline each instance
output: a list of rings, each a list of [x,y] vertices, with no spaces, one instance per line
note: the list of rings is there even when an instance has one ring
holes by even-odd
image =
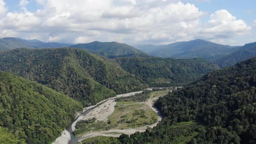
[[[228,46],[212,43],[202,39],[188,42],[177,42],[168,45],[142,45],[137,49],[151,56],[173,57],[178,59],[203,58],[207,60],[218,59],[239,49],[239,46]]]

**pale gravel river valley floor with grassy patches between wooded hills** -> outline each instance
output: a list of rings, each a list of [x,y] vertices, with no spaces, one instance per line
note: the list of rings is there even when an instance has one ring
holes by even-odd
[[[145,90],[150,92],[145,94],[148,97],[146,101],[115,102],[117,98],[129,98],[143,93],[139,91],[117,95],[97,105],[84,108],[75,121],[69,124],[71,127],[63,131],[53,144],[75,144],[75,141],[80,142],[100,135],[119,137],[121,133],[133,134],[136,131],[143,132],[147,128],[153,128],[162,119],[161,112],[153,106],[153,102],[177,88],[160,91],[152,91],[153,89]],[[72,134],[73,131],[77,138]]]

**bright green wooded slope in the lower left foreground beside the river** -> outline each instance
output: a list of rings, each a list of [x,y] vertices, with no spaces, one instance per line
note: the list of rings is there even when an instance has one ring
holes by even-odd
[[[1,144],[49,144],[79,111],[69,96],[0,71]]]

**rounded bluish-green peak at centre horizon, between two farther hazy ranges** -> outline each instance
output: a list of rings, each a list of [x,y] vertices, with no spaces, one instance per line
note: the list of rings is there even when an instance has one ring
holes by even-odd
[[[125,43],[117,42],[92,42],[92,43],[80,43],[76,45],[69,46],[72,48],[84,49],[88,52],[105,56],[106,58],[116,58],[116,57],[148,57],[144,52],[135,49]]]

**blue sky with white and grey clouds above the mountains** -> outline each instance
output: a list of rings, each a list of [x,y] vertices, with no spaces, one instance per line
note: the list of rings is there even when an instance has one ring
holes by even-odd
[[[163,45],[256,42],[256,0],[0,0],[0,38]]]

